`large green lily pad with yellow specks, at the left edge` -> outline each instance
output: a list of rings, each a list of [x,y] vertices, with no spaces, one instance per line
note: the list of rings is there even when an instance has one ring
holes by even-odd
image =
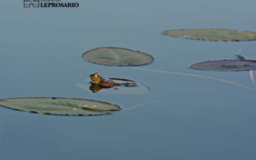
[[[120,110],[120,106],[97,100],[46,97],[0,99],[0,105],[53,115],[106,115]]]

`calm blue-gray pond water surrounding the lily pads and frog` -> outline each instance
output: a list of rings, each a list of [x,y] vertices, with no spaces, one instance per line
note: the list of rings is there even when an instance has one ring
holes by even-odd
[[[189,69],[207,60],[256,60],[256,42],[209,42],[165,36],[166,29],[256,31],[256,1],[82,1],[78,8],[0,5],[0,99],[68,97],[118,104],[104,116],[56,116],[0,106],[0,159],[256,159],[255,88],[250,72]],[[147,52],[139,68],[83,60],[95,47]],[[238,48],[239,47],[239,48]],[[92,93],[76,83],[99,72],[150,86],[143,95]],[[256,75],[256,72],[252,72]],[[159,102],[161,101],[161,102]],[[168,102],[167,102],[168,101]]]

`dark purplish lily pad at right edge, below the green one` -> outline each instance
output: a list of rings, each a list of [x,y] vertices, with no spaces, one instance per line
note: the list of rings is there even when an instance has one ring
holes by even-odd
[[[218,60],[204,61],[190,66],[190,68],[198,70],[223,70],[223,71],[239,71],[256,69],[256,61],[253,60]]]

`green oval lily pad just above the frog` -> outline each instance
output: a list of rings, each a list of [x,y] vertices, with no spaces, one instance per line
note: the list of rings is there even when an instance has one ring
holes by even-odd
[[[83,58],[93,63],[111,66],[145,65],[154,61],[149,54],[116,47],[99,47],[84,52]]]

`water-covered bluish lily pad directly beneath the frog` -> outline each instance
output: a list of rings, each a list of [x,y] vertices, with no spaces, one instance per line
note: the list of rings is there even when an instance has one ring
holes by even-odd
[[[131,80],[128,79],[118,79],[118,78],[109,78],[109,79],[117,79],[116,83],[131,83]],[[118,86],[112,88],[102,88],[98,84],[92,84],[89,82],[90,79],[85,79],[84,81],[76,83],[78,88],[82,90],[90,91],[93,93],[111,93],[111,94],[145,94],[149,92],[149,88],[144,84],[136,83],[137,85],[134,87],[127,87],[127,86]],[[134,82],[134,81],[132,81]]]

